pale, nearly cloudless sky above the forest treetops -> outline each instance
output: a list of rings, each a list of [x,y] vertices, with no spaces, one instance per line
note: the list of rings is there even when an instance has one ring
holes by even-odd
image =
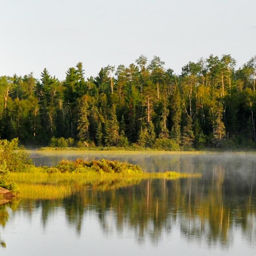
[[[256,0],[0,0],[0,76],[43,68],[65,79],[134,63],[141,54],[180,74],[189,61],[256,55]]]

